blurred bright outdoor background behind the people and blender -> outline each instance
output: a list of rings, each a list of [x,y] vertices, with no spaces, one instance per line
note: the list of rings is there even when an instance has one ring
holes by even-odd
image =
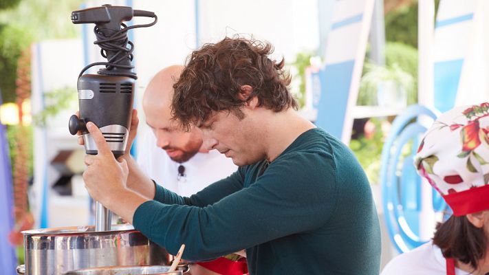
[[[292,74],[299,111],[348,144],[369,177],[382,266],[428,241],[450,212],[421,184],[411,156],[440,111],[488,98],[483,1],[0,0],[3,261],[23,263],[22,230],[94,224],[81,177],[85,151],[67,122],[78,109],[80,70],[101,57],[94,25],[74,25],[70,14],[105,3],[158,16],[153,27],[129,31],[137,109],[157,71],[184,65],[205,43],[237,34],[272,43],[273,58],[285,58]]]

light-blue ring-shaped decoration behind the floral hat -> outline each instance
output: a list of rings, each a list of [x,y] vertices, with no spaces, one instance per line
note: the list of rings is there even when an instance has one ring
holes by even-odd
[[[382,148],[382,208],[389,237],[400,253],[428,241],[422,240],[419,233],[422,180],[413,166],[413,157],[420,143],[418,139],[426,132],[426,126],[431,125],[436,118],[435,111],[411,105],[395,118]],[[435,212],[447,208],[437,192],[433,192],[432,207]]]

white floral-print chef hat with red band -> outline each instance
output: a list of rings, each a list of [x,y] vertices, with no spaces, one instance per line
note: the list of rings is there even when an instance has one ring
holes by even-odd
[[[455,216],[489,209],[489,103],[442,115],[417,149],[417,173],[445,199]]]

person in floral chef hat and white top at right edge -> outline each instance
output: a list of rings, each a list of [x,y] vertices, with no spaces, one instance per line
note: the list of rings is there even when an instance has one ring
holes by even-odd
[[[489,274],[488,132],[488,102],[452,109],[426,132],[414,165],[453,215],[433,241],[396,257],[382,275]]]

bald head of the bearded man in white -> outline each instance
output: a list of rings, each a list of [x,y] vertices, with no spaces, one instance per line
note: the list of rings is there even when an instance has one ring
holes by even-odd
[[[175,162],[186,162],[202,146],[202,132],[193,127],[183,131],[180,124],[172,120],[171,98],[173,84],[178,80],[184,66],[173,65],[155,74],[146,87],[142,98],[142,108],[146,124],[156,137],[156,145],[166,151]]]

